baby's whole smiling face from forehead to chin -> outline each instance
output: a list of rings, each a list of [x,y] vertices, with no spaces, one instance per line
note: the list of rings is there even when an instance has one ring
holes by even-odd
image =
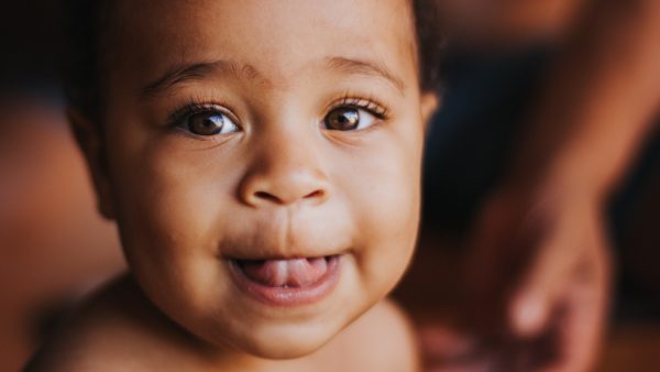
[[[289,358],[382,299],[420,204],[408,1],[122,1],[113,19],[101,203],[157,307]]]

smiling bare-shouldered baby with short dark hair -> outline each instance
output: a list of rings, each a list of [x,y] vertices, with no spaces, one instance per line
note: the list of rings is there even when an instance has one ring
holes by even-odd
[[[82,1],[69,118],[130,274],[29,371],[417,369],[430,1]]]

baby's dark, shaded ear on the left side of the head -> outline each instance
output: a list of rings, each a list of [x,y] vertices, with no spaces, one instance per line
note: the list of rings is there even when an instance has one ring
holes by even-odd
[[[97,207],[103,217],[114,219],[112,188],[110,187],[101,129],[74,108],[67,108],[66,116],[91,175],[97,195]]]

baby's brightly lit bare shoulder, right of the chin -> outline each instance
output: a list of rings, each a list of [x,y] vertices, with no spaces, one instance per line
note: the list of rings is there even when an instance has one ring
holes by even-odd
[[[323,350],[344,364],[342,371],[413,372],[420,370],[413,325],[392,299],[384,299],[349,326]]]

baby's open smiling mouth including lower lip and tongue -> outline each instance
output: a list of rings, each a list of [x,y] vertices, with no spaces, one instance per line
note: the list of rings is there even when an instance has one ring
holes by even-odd
[[[239,260],[230,267],[237,285],[270,305],[295,306],[319,300],[334,287],[340,255]]]

